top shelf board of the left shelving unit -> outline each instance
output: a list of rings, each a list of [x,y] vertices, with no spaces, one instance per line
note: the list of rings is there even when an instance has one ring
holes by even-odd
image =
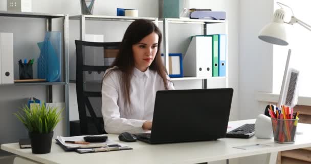
[[[0,16],[34,17],[34,18],[59,18],[59,17],[65,17],[65,14],[0,11]]]

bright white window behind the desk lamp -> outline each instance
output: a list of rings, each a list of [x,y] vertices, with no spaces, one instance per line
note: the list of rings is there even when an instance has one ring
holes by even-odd
[[[310,0],[282,0],[275,1],[274,11],[280,6],[280,2],[290,6],[295,17],[311,25]],[[285,22],[290,22],[292,11],[287,7],[282,7],[286,11]],[[299,96],[311,97],[311,31],[299,24],[288,25],[289,44],[288,46],[273,47],[273,93],[279,94],[285,69],[288,49],[292,49],[290,66],[300,71],[299,73]]]

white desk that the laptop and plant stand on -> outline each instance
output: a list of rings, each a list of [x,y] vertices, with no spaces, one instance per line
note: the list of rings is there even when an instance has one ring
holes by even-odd
[[[255,119],[229,122],[231,124],[254,123]],[[311,147],[311,125],[299,124],[298,130],[302,135],[296,135],[294,144],[278,144],[273,139],[235,139],[223,138],[216,141],[199,141],[179,144],[149,145],[141,141],[128,142],[133,150],[98,152],[78,154],[64,152],[53,141],[49,154],[32,154],[31,149],[19,149],[18,143],[1,145],[1,149],[42,163],[199,163],[223,160],[278,151]],[[118,140],[118,135],[108,135],[112,140]],[[242,150],[235,146],[265,144],[271,147]],[[267,160],[269,162],[269,160]],[[275,161],[274,161],[275,162]]]

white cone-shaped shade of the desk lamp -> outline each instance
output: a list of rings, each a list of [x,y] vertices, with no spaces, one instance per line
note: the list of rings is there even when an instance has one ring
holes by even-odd
[[[265,25],[259,32],[258,38],[264,42],[287,46],[286,24],[284,24],[285,11],[278,9],[274,13],[273,22]]]

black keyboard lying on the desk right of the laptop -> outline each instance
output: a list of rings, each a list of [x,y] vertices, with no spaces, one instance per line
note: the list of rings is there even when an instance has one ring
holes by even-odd
[[[227,133],[227,138],[250,138],[255,134],[255,124],[245,124]]]

